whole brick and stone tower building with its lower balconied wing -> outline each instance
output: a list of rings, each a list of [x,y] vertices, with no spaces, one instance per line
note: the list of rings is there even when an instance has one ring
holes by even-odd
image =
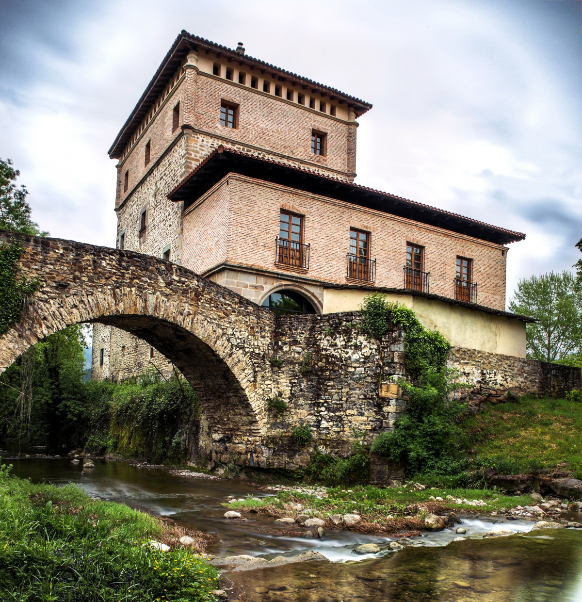
[[[523,234],[354,184],[371,104],[185,31],[117,135],[117,246],[191,268],[275,312],[357,309],[380,290],[457,347],[525,356],[504,311]],[[93,378],[166,360],[93,330]]]

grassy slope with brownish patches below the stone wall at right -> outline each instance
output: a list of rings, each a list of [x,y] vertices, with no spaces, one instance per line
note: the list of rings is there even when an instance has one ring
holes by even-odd
[[[582,404],[566,399],[521,397],[489,405],[463,428],[477,456],[512,458],[520,471],[567,462],[582,479]]]

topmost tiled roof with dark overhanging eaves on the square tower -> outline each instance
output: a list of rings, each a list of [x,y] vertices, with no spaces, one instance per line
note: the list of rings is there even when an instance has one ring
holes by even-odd
[[[123,127],[120,129],[119,134],[117,134],[113,144],[111,144],[111,148],[108,151],[108,155],[110,155],[111,158],[117,158],[121,155],[125,145],[131,138],[131,135],[138,125],[140,125],[144,116],[146,116],[147,111],[149,111],[167,82],[174,75],[182,63],[182,60],[184,60],[188,54],[188,51],[192,49],[217,52],[218,54],[232,58],[232,60],[237,61],[238,63],[258,67],[261,70],[269,70],[271,73],[284,77],[285,79],[297,79],[297,84],[309,86],[314,92],[320,92],[323,95],[329,95],[347,102],[348,105],[353,106],[357,116],[366,113],[366,111],[369,111],[372,108],[372,105],[369,102],[362,101],[359,98],[340,92],[339,90],[336,90],[336,88],[320,84],[312,79],[286,71],[285,69],[281,69],[270,63],[265,63],[265,61],[261,61],[258,58],[249,57],[247,54],[238,54],[231,48],[211,42],[211,40],[205,40],[199,36],[193,36],[185,31],[185,29],[182,29],[164,57],[164,60],[159,65],[158,70],[156,70],[155,75],[150,80],[149,84],[147,84],[146,89],[134,109],[131,111],[127,121],[123,124]]]

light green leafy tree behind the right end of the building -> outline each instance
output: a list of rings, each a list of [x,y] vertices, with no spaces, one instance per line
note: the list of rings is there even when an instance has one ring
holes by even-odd
[[[580,350],[582,288],[571,272],[520,280],[509,309],[538,320],[525,326],[529,357],[554,362]]]

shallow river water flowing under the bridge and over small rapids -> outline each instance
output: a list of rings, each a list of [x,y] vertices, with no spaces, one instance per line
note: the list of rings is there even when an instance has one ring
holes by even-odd
[[[229,521],[220,505],[227,495],[266,495],[244,481],[175,477],[164,470],[107,461],[94,461],[95,468],[81,474],[82,468],[69,458],[1,456],[3,462],[13,464],[16,476],[55,485],[78,483],[94,497],[212,533],[215,538],[208,552],[217,556],[252,554],[268,560],[316,550],[332,561],[232,574],[231,594],[250,602],[582,602],[581,530],[530,532],[530,521],[468,517],[463,518],[464,541],[453,541],[454,529],[445,529],[413,538],[413,546],[391,552],[385,548],[392,540],[385,537],[338,529],[328,530],[323,539],[306,539],[302,529],[274,527],[272,518],[261,515]],[[579,516],[572,520],[582,521]],[[483,539],[494,523],[501,522],[516,535]],[[383,551],[367,556],[352,553],[357,545],[370,542]]]

